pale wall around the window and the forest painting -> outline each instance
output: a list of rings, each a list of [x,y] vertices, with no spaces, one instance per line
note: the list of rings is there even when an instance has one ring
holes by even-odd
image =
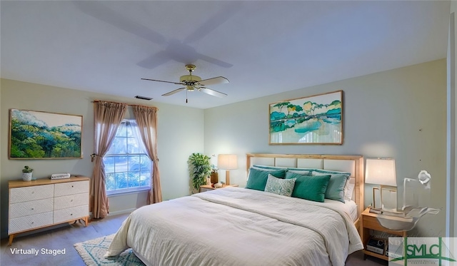
[[[100,93],[57,88],[34,83],[1,79],[0,125],[0,192],[1,237],[6,237],[8,226],[8,180],[21,178],[24,165],[34,168],[37,178],[51,173],[69,172],[91,176],[90,154],[94,144],[93,103],[95,99],[156,106],[158,113],[158,152],[161,188],[164,200],[189,195],[187,158],[204,150],[204,111],[197,108],[172,106],[153,101],[109,96]],[[9,160],[9,109],[46,111],[83,116],[82,159],[65,160]],[[133,118],[130,109],[126,118]],[[146,203],[146,193],[130,193],[109,198],[110,212],[122,213]]]

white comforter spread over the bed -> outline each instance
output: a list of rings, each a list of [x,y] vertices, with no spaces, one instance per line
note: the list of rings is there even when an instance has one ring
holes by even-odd
[[[106,257],[132,247],[146,265],[344,265],[361,239],[348,215],[323,205],[244,188],[147,205]]]

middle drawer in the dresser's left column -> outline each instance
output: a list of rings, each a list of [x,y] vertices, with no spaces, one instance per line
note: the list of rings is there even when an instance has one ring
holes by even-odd
[[[26,201],[25,203],[14,203],[9,205],[9,218],[19,218],[38,213],[48,213],[52,211],[54,205],[53,198],[44,200]]]

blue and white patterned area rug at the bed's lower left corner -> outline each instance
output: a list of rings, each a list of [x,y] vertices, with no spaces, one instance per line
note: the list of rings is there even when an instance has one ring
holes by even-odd
[[[116,257],[105,258],[104,255],[106,250],[108,250],[111,241],[113,241],[113,238],[114,234],[87,240],[86,242],[74,244],[74,248],[76,248],[76,251],[78,251],[87,266],[144,266],[144,263],[136,257],[131,248],[125,250]]]

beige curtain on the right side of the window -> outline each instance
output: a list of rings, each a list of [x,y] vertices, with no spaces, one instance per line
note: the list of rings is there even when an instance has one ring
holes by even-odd
[[[160,203],[162,192],[160,186],[159,159],[157,158],[157,111],[151,106],[131,106],[134,111],[139,133],[144,143],[146,153],[152,160],[151,190],[147,203]]]

